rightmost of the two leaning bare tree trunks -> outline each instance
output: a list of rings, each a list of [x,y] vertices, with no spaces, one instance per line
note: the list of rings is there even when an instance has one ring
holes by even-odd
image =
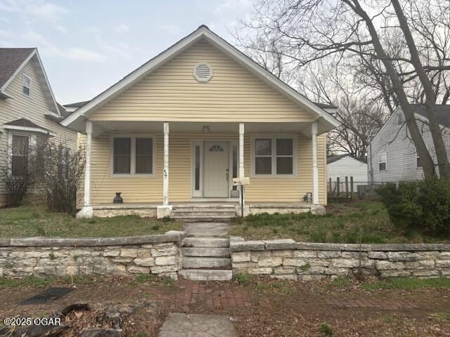
[[[429,127],[433,144],[435,145],[437,165],[439,167],[439,176],[449,178],[449,158],[447,157],[444,140],[442,139],[441,128],[439,127],[439,122],[437,121],[435,91],[433,90],[430,79],[423,69],[422,62],[420,62],[416,43],[414,42],[411,30],[409,29],[409,25],[403,13],[403,9],[401,8],[398,0],[392,0],[391,2],[392,6],[394,7],[395,13],[397,14],[401,31],[405,36],[406,44],[409,48],[409,53],[411,54],[411,63],[416,70],[418,78],[420,79],[420,83],[423,85],[423,89],[425,91],[425,105],[427,106]]]

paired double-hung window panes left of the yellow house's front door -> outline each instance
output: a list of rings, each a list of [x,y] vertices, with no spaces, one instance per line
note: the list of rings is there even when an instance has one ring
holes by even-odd
[[[113,138],[113,174],[153,174],[153,137]]]

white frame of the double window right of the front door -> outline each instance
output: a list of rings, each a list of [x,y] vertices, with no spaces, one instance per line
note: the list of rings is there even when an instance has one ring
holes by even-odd
[[[259,133],[254,134],[251,137],[250,145],[250,177],[253,178],[277,178],[277,179],[291,179],[297,178],[298,175],[298,135],[296,133]],[[256,174],[255,173],[255,140],[259,138],[271,139],[271,158],[272,158],[272,173],[271,174]],[[276,174],[276,139],[277,138],[290,138],[293,140],[293,174]],[[278,157],[290,157],[290,156],[278,156]]]

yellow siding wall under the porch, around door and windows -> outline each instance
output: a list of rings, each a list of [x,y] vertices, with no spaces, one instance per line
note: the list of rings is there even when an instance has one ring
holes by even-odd
[[[162,204],[162,134],[156,135],[154,177],[113,177],[110,174],[111,135],[104,134],[92,140],[91,203],[110,204],[116,191],[122,192],[124,202],[154,202]],[[250,176],[250,139],[245,135],[245,175]],[[238,140],[237,134],[222,133],[197,135],[170,133],[169,135],[169,202],[191,201],[192,142],[193,140]],[[326,204],[326,136],[318,138],[319,201]],[[306,192],[312,191],[311,140],[298,137],[297,178],[251,178],[246,188],[246,200],[251,201],[302,201]],[[79,206],[82,199],[79,200]]]

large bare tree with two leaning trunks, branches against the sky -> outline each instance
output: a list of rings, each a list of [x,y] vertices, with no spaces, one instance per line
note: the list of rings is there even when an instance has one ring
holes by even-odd
[[[425,6],[428,11],[422,11]],[[359,68],[356,79],[378,88],[390,111],[401,106],[425,177],[431,177],[435,165],[411,105],[425,103],[440,176],[450,177],[436,111],[437,98],[446,102],[450,95],[449,10],[449,1],[439,0],[260,0],[245,27],[263,32],[255,46],[276,42],[269,53],[280,54],[288,69],[302,70],[318,60]],[[255,46],[248,44],[257,52]]]

